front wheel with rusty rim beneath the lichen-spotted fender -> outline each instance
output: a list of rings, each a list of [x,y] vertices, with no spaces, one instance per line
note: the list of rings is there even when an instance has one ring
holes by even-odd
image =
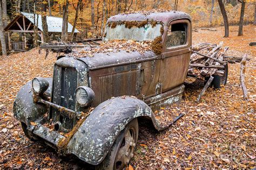
[[[133,157],[134,148],[138,140],[138,127],[137,118],[128,123],[125,129],[119,133],[106,158],[96,169],[112,170],[125,168]]]

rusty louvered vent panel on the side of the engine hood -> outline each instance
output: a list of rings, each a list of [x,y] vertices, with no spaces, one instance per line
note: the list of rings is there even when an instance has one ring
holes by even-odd
[[[111,97],[136,95],[137,78],[137,70],[100,76],[100,100],[103,102]]]

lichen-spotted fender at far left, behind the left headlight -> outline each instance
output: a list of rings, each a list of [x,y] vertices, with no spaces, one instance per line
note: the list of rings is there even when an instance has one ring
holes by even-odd
[[[49,87],[44,94],[50,96],[52,78],[45,78],[49,82]],[[14,117],[25,124],[36,122],[36,120],[43,116],[49,107],[42,103],[33,102],[32,81],[29,81],[19,90],[13,106]]]

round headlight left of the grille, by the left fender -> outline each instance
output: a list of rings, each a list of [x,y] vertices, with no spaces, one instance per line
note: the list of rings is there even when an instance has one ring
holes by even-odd
[[[49,87],[49,82],[45,80],[44,78],[37,77],[32,80],[32,88],[35,91],[35,93],[41,95],[46,91]]]

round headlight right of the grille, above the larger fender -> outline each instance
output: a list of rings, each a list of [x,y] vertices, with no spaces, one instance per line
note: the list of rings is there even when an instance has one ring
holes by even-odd
[[[86,86],[80,86],[76,89],[76,101],[81,107],[85,107],[95,98],[94,91]]]

